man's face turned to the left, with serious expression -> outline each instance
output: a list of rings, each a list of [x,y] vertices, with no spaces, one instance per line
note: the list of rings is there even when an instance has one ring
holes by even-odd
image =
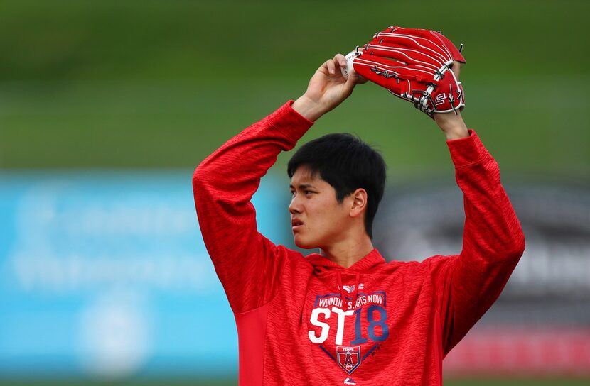
[[[290,188],[289,212],[296,246],[326,248],[345,237],[343,230],[350,221],[348,197],[339,203],[332,185],[306,166],[297,168]]]

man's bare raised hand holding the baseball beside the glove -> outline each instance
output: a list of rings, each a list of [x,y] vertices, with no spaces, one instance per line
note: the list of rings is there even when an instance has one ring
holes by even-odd
[[[305,94],[294,102],[293,109],[310,121],[316,121],[348,98],[359,83],[359,77],[352,70],[348,80],[344,79],[340,67],[346,67],[344,55],[336,54],[333,59],[326,60],[311,77]]]

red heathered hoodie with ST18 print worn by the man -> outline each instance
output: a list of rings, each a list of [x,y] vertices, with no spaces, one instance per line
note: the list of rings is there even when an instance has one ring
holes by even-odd
[[[258,233],[250,202],[313,124],[291,104],[193,175],[205,246],[235,314],[240,385],[442,385],[444,355],[498,298],[525,248],[498,164],[474,131],[447,141],[465,203],[459,255],[386,262],[375,249],[350,268],[304,257]]]

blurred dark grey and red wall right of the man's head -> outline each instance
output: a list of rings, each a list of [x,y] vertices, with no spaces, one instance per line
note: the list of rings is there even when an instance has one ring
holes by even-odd
[[[590,187],[504,182],[527,247],[500,298],[444,360],[446,375],[590,375]],[[385,209],[385,210],[383,210]],[[463,197],[436,180],[390,189],[375,244],[397,260],[461,250]]]

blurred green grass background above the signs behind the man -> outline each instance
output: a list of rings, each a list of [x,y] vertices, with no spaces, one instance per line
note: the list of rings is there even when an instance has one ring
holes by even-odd
[[[503,177],[587,183],[589,14],[584,0],[4,0],[0,167],[191,170],[301,95],[328,57],[399,25],[441,30],[465,45],[463,117]],[[374,84],[355,89],[303,142],[333,131],[377,145],[390,181],[453,172],[434,123]],[[288,157],[281,155],[274,172],[284,174]],[[154,382],[225,385],[124,384]],[[547,382],[530,384],[584,383]]]

